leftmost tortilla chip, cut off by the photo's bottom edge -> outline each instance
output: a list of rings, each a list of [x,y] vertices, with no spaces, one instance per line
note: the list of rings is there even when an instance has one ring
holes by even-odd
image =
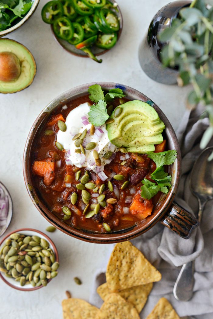
[[[77,298],[69,298],[62,301],[64,319],[94,319],[98,308],[87,301]]]

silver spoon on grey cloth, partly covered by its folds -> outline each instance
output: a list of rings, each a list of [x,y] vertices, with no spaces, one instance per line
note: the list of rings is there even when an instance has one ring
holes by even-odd
[[[206,203],[213,199],[213,161],[208,161],[212,151],[213,147],[208,147],[200,154],[190,174],[190,188],[199,203],[199,223]],[[193,287],[194,260],[183,264],[173,289],[175,298],[181,301],[190,300],[193,296]]]

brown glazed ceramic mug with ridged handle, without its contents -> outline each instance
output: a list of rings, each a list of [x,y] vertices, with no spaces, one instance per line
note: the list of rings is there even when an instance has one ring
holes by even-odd
[[[162,223],[164,226],[170,228],[179,236],[187,239],[190,237],[192,230],[198,226],[198,221],[187,211],[180,208],[177,204],[173,202],[173,199],[176,195],[178,184],[181,175],[181,153],[179,148],[179,143],[176,137],[176,134],[161,109],[147,96],[143,93],[134,90],[133,88],[111,82],[98,82],[97,84],[101,85],[103,89],[113,89],[115,87],[120,87],[126,94],[127,99],[129,100],[141,100],[148,102],[159,114],[161,120],[165,124],[164,135],[167,140],[168,149],[177,150],[177,159],[170,166],[170,174],[172,177],[171,180],[171,190],[168,194],[162,194],[158,204],[155,206],[154,211],[146,219],[141,220],[137,225],[133,225],[129,228],[119,230],[112,233],[98,233],[94,231],[88,231],[86,229],[75,229],[74,227],[67,225],[62,220],[58,219],[47,207],[44,200],[37,190],[32,186],[31,180],[31,165],[30,165],[30,152],[32,145],[34,144],[35,135],[40,131],[43,123],[45,123],[49,113],[53,109],[57,108],[59,105],[64,105],[74,99],[80,98],[87,94],[87,89],[90,85],[96,83],[88,83],[84,85],[77,86],[73,89],[62,93],[57,98],[52,100],[46,108],[40,113],[40,115],[35,120],[29,135],[27,137],[27,142],[24,151],[23,159],[23,170],[24,170],[24,180],[27,187],[27,191],[42,216],[47,219],[53,226],[60,229],[65,234],[68,234],[72,237],[81,239],[83,241],[95,242],[95,243],[114,243],[120,241],[130,240],[140,234],[145,233],[151,227],[153,227],[157,222]]]

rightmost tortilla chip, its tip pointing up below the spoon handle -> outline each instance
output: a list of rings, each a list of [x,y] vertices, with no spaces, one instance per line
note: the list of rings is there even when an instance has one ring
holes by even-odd
[[[172,305],[166,298],[158,300],[155,308],[148,315],[147,319],[180,319],[179,315],[172,308]]]

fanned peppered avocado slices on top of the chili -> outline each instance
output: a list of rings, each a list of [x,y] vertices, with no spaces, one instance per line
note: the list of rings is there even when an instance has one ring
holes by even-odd
[[[149,104],[134,100],[119,106],[122,109],[118,117],[114,112],[110,118],[113,123],[107,124],[108,137],[114,145],[126,147],[128,152],[145,154],[155,150],[155,144],[163,142],[164,122],[156,110]]]

